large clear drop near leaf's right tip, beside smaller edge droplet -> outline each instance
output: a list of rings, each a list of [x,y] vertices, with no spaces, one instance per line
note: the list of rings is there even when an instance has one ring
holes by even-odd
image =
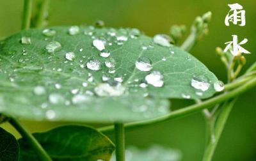
[[[201,91],[207,91],[210,84],[204,76],[199,76],[191,79],[191,86],[195,89],[200,89]]]

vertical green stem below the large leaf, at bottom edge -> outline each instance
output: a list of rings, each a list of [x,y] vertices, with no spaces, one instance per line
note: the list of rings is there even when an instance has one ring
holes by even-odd
[[[125,161],[124,123],[115,123],[116,161]]]

